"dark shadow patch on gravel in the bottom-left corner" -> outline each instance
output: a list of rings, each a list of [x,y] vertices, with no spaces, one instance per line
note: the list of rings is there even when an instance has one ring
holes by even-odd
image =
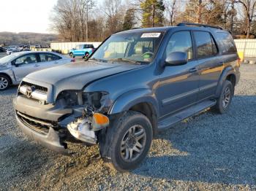
[[[15,137],[6,137],[6,143],[0,147],[0,185],[20,182],[25,177],[37,175],[40,168],[48,163],[42,148],[34,142]],[[0,137],[4,141],[4,137]],[[3,144],[1,143],[0,144]],[[1,189],[0,189],[1,190]]]

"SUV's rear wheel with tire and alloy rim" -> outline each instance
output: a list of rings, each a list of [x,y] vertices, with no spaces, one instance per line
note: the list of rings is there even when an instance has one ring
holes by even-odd
[[[230,107],[233,95],[234,95],[234,87],[232,83],[228,80],[225,80],[225,82],[222,85],[222,90],[219,95],[219,98],[217,99],[215,111],[218,112],[219,114],[224,114],[225,112],[227,112],[227,110]]]

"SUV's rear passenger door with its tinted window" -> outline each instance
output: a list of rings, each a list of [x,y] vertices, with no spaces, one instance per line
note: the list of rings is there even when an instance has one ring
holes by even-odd
[[[200,74],[198,101],[203,101],[215,95],[224,66],[214,37],[208,31],[193,31],[193,35]]]

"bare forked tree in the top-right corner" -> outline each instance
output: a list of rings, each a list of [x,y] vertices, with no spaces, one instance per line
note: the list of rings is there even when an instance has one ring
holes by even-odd
[[[244,8],[244,16],[246,17],[246,39],[249,39],[252,20],[255,17],[256,0],[237,0]]]

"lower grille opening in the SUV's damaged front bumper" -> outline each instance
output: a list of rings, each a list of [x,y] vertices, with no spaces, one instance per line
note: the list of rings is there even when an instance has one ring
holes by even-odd
[[[39,120],[27,114],[17,112],[17,116],[24,125],[44,135],[48,134],[50,127],[54,127],[50,121]]]

